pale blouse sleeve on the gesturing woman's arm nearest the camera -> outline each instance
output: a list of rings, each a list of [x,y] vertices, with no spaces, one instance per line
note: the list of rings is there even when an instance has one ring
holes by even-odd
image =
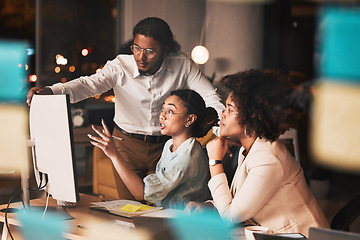
[[[181,163],[177,161],[181,159]],[[159,169],[153,174],[144,178],[144,199],[150,202],[158,202],[164,199],[169,192],[186,181],[184,176],[190,162],[190,154],[188,151],[177,155],[171,161],[171,166]]]

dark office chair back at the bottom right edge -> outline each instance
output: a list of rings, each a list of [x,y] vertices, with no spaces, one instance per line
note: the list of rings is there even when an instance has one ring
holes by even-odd
[[[360,195],[341,208],[331,221],[330,228],[349,231],[349,226],[360,216]]]

